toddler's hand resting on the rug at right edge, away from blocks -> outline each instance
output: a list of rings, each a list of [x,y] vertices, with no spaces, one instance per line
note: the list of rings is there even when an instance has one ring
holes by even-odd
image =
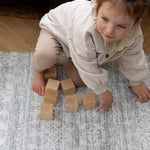
[[[131,86],[131,88],[142,103],[150,100],[150,89],[143,82],[140,85]]]

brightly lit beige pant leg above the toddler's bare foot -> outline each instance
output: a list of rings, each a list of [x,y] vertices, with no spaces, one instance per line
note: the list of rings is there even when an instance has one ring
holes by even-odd
[[[62,47],[54,35],[41,29],[35,53],[32,57],[33,68],[36,71],[41,72],[52,67],[56,64],[57,57],[61,50]]]

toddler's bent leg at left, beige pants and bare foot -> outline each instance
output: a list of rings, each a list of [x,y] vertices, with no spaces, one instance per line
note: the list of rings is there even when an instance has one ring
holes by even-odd
[[[61,45],[55,39],[53,34],[41,29],[35,53],[32,58],[32,65],[34,68],[32,89],[37,94],[44,95],[44,71],[57,62],[57,57],[61,49]]]

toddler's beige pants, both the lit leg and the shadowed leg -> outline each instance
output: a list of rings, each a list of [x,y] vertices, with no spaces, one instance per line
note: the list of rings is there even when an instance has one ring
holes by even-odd
[[[44,29],[41,29],[40,35],[32,57],[33,68],[38,71],[44,71],[56,64],[57,57],[62,51],[62,47],[54,35]],[[78,70],[75,68],[71,58],[66,62],[67,77],[71,78],[76,86],[85,86],[80,78]]]

